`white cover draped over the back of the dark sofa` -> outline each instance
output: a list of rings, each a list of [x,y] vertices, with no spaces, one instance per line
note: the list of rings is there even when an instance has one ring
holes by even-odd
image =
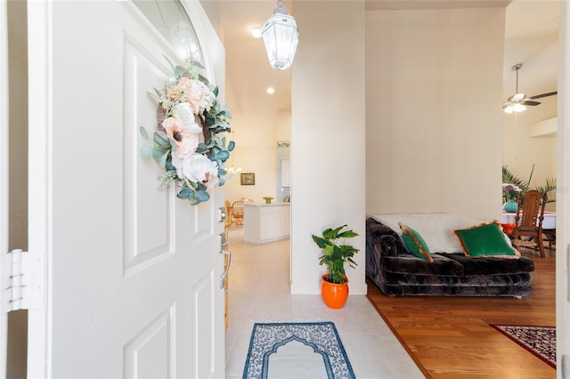
[[[398,222],[415,229],[428,244],[430,253],[462,253],[460,240],[453,230],[465,229],[482,221],[461,214],[374,214],[377,222],[402,236]]]

